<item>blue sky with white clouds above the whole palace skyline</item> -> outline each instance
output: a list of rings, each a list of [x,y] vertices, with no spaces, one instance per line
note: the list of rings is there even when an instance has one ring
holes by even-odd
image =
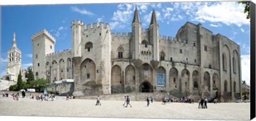
[[[66,5],[7,5],[1,6],[1,77],[7,64],[7,51],[12,47],[13,32],[17,47],[22,51],[22,67],[32,65],[31,36],[43,29],[56,39],[55,51],[71,48],[70,25],[74,19],[85,24],[109,23],[111,32],[131,32],[135,5],[142,28],[149,27],[151,11],[155,8],[159,34],[175,37],[187,21],[202,23],[203,27],[221,33],[241,48],[242,80],[250,84],[250,20],[243,13],[244,5],[237,2],[165,2],[108,3]]]

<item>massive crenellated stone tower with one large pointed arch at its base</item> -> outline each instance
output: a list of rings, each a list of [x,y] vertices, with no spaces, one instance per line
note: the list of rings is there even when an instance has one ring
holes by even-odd
[[[79,19],[71,23],[72,60],[74,62],[74,96],[110,93],[111,31],[103,22],[85,24]],[[98,92],[92,86],[98,87]]]

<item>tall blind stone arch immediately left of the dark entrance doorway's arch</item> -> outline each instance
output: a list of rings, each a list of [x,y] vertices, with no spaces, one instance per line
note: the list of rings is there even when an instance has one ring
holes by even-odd
[[[125,68],[125,92],[132,92],[135,90],[135,68],[128,65]]]

